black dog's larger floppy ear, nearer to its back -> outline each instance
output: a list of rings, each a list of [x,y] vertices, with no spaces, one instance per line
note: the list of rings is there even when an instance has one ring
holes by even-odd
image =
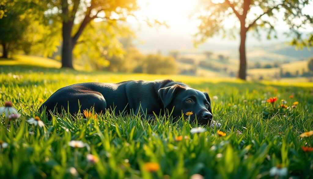
[[[178,91],[184,89],[181,85],[173,85],[170,87],[160,88],[158,95],[163,103],[163,107],[166,108],[173,100]]]

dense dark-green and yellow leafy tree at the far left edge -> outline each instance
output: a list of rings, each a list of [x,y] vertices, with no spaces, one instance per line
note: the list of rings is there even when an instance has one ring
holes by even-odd
[[[27,54],[52,54],[55,45],[51,44],[58,44],[58,40],[54,39],[55,24],[49,24],[42,16],[46,10],[45,5],[41,1],[29,0],[4,0],[0,3],[0,43],[3,58],[8,58],[14,50],[23,50]]]

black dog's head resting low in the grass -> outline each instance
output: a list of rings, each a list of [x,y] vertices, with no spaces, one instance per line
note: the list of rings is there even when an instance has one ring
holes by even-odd
[[[182,113],[187,118],[187,112],[192,112],[190,118],[198,120],[198,124],[211,124],[213,115],[211,100],[207,92],[201,92],[190,87],[175,84],[158,91],[164,108],[172,111],[173,117],[180,117]]]

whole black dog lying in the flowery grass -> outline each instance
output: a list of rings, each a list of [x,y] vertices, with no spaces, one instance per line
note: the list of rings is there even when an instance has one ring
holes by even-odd
[[[54,92],[40,110],[44,107],[46,111],[65,109],[72,114],[92,107],[97,113],[115,108],[117,114],[133,110],[135,114],[146,114],[146,118],[167,110],[173,110],[173,117],[187,117],[185,113],[192,112],[191,118],[197,118],[199,124],[210,124],[213,118],[207,92],[172,80],[74,84]]]

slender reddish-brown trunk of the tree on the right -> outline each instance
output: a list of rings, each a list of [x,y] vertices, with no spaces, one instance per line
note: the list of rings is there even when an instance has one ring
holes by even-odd
[[[247,59],[246,59],[246,36],[247,31],[241,29],[240,31],[240,47],[239,47],[239,74],[238,77],[242,80],[246,80],[247,71]]]

